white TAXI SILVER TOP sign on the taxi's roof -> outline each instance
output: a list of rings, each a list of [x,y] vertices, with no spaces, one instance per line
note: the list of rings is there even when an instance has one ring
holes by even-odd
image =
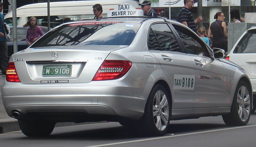
[[[143,10],[135,9],[129,3],[122,3],[115,9],[110,9],[107,17],[124,17],[124,16],[143,16]]]

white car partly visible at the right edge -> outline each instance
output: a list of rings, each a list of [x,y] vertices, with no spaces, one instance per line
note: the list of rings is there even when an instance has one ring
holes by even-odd
[[[248,29],[237,40],[231,52],[227,55],[230,60],[244,68],[252,83],[253,97],[256,97],[256,27]],[[255,105],[255,101],[253,102]],[[252,109],[254,112],[256,107]]]

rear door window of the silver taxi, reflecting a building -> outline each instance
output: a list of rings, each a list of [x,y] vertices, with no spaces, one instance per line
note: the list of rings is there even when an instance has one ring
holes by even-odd
[[[153,24],[148,37],[149,50],[181,52],[173,32],[167,24]]]

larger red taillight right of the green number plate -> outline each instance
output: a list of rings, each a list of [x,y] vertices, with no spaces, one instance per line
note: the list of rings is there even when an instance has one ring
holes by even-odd
[[[123,77],[132,67],[132,62],[126,60],[105,60],[92,81],[115,80]]]

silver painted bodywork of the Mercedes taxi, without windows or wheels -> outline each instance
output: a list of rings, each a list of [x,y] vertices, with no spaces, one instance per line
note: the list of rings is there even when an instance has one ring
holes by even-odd
[[[87,22],[90,21],[94,22]],[[3,101],[8,115],[11,116],[12,110],[23,114],[75,111],[140,119],[149,92],[157,82],[164,82],[170,89],[174,118],[229,112],[236,84],[241,78],[248,79],[244,70],[203,56],[149,52],[145,34],[154,22],[164,21],[161,18],[145,21],[130,46],[51,46],[28,48],[13,54],[9,62],[15,61],[21,82],[4,83]],[[52,59],[53,52],[58,53],[56,60]],[[161,55],[172,57],[172,62],[164,60]],[[22,61],[18,61],[20,59]],[[104,60],[129,60],[133,65],[121,79],[92,81]],[[197,66],[192,60],[203,62],[204,67]],[[42,77],[43,65],[49,62],[71,64],[72,75]],[[194,78],[193,90],[175,89],[178,87],[175,82],[180,84],[175,80],[182,76]],[[68,80],[68,83],[40,83],[44,80]]]

